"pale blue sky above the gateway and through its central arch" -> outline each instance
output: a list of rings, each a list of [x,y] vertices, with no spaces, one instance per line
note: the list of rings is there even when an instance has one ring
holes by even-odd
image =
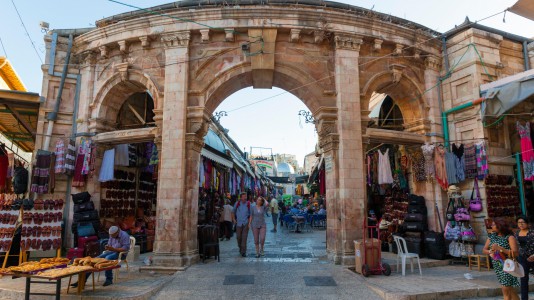
[[[151,7],[171,1],[122,0],[138,7]],[[228,2],[232,2],[229,0]],[[337,1],[375,11],[392,14],[445,32],[462,23],[505,10],[516,0],[345,0]],[[17,15],[24,22],[28,35]],[[108,0],[2,0],[0,4],[0,56],[7,56],[29,91],[41,93],[44,61],[44,34],[39,21],[50,23],[50,29],[93,27],[104,17],[131,11],[132,8]],[[534,22],[506,13],[482,21],[481,24],[514,34],[534,37]],[[31,41],[30,41],[31,40]],[[32,42],[35,49],[32,47]],[[282,94],[284,91],[244,89],[226,99],[217,110],[232,111],[244,105]],[[305,154],[314,150],[317,136],[311,124],[299,120],[298,111],[307,110],[304,104],[289,93],[235,110],[221,119],[230,136],[247,151],[250,146],[270,147],[274,153],[296,154],[299,163]]]

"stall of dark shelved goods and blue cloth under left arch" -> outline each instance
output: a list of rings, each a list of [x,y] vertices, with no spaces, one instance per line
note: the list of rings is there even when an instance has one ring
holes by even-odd
[[[117,225],[136,238],[141,253],[154,244],[157,168],[154,143],[120,144],[104,152],[98,177],[102,234]]]

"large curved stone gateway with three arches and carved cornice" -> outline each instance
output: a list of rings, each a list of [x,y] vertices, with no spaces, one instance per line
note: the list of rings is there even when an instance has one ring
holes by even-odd
[[[196,23],[138,11],[101,20],[75,39],[75,55],[88,54],[96,62],[91,65],[103,66],[82,71],[87,118],[79,127],[93,133],[114,130],[112,116],[120,107],[114,103],[124,93],[148,89],[154,98],[155,141],[164,162],[155,265],[175,267],[198,259],[195,198],[203,137],[217,105],[248,86],[280,87],[313,113],[327,165],[328,252],[336,263],[353,264],[353,240],[362,236],[365,216],[368,93],[395,94],[407,119],[439,113],[434,93],[409,101],[436,83],[439,58],[429,59],[439,56],[440,43],[421,43],[435,33],[335,3],[203,5],[155,8]],[[373,63],[364,65],[370,58]],[[97,91],[94,97],[92,91]],[[437,132],[436,125],[424,121],[407,125],[411,132]]]

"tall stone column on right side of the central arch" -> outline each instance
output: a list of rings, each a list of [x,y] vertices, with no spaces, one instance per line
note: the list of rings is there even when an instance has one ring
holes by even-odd
[[[362,237],[366,216],[366,189],[358,58],[362,38],[355,35],[335,36],[335,80],[337,92],[337,124],[339,147],[332,153],[333,176],[327,172],[327,190],[337,190],[328,197],[329,208],[335,212],[328,218],[329,255],[335,263],[354,264],[354,240]],[[337,182],[336,182],[337,181]],[[336,188],[334,188],[336,187]],[[331,237],[336,237],[333,240]],[[335,244],[334,244],[335,243]]]

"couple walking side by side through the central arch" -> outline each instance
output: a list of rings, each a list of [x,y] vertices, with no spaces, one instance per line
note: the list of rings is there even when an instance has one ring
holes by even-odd
[[[256,257],[263,256],[263,246],[265,244],[266,223],[265,199],[258,197],[256,203],[251,204],[247,201],[247,193],[239,194],[239,201],[234,205],[232,221],[236,224],[237,245],[241,256],[247,256],[247,237],[248,230],[252,228],[254,235],[254,245],[256,246]]]

